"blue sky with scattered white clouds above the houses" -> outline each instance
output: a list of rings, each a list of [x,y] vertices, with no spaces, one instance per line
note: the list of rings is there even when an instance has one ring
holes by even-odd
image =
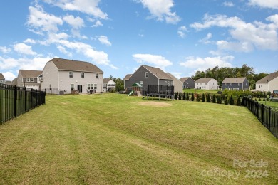
[[[43,70],[51,58],[124,78],[140,65],[177,78],[197,70],[278,69],[277,0],[3,0],[0,73]]]

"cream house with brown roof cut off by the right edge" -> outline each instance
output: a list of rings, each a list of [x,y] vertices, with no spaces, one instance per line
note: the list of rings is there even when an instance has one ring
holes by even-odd
[[[270,91],[272,93],[274,90],[278,90],[278,71],[270,73],[266,77],[257,81],[256,90],[265,92]]]

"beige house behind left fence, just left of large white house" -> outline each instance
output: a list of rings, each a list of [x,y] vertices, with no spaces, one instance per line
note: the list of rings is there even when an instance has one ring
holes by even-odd
[[[17,85],[19,87],[41,90],[41,70],[19,70]]]

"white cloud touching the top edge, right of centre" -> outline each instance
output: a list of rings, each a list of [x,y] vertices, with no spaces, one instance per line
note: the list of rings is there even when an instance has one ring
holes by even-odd
[[[180,17],[171,11],[174,6],[173,0],[137,0],[150,11],[149,18],[156,18],[158,21],[166,21],[166,23],[177,23]]]

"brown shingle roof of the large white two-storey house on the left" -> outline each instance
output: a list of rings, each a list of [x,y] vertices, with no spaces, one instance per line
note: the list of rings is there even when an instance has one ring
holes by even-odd
[[[91,73],[103,73],[103,71],[92,63],[78,61],[78,60],[68,60],[63,58],[53,58],[51,61],[56,65],[58,70],[69,70],[69,71],[81,71],[81,72],[91,72]]]

